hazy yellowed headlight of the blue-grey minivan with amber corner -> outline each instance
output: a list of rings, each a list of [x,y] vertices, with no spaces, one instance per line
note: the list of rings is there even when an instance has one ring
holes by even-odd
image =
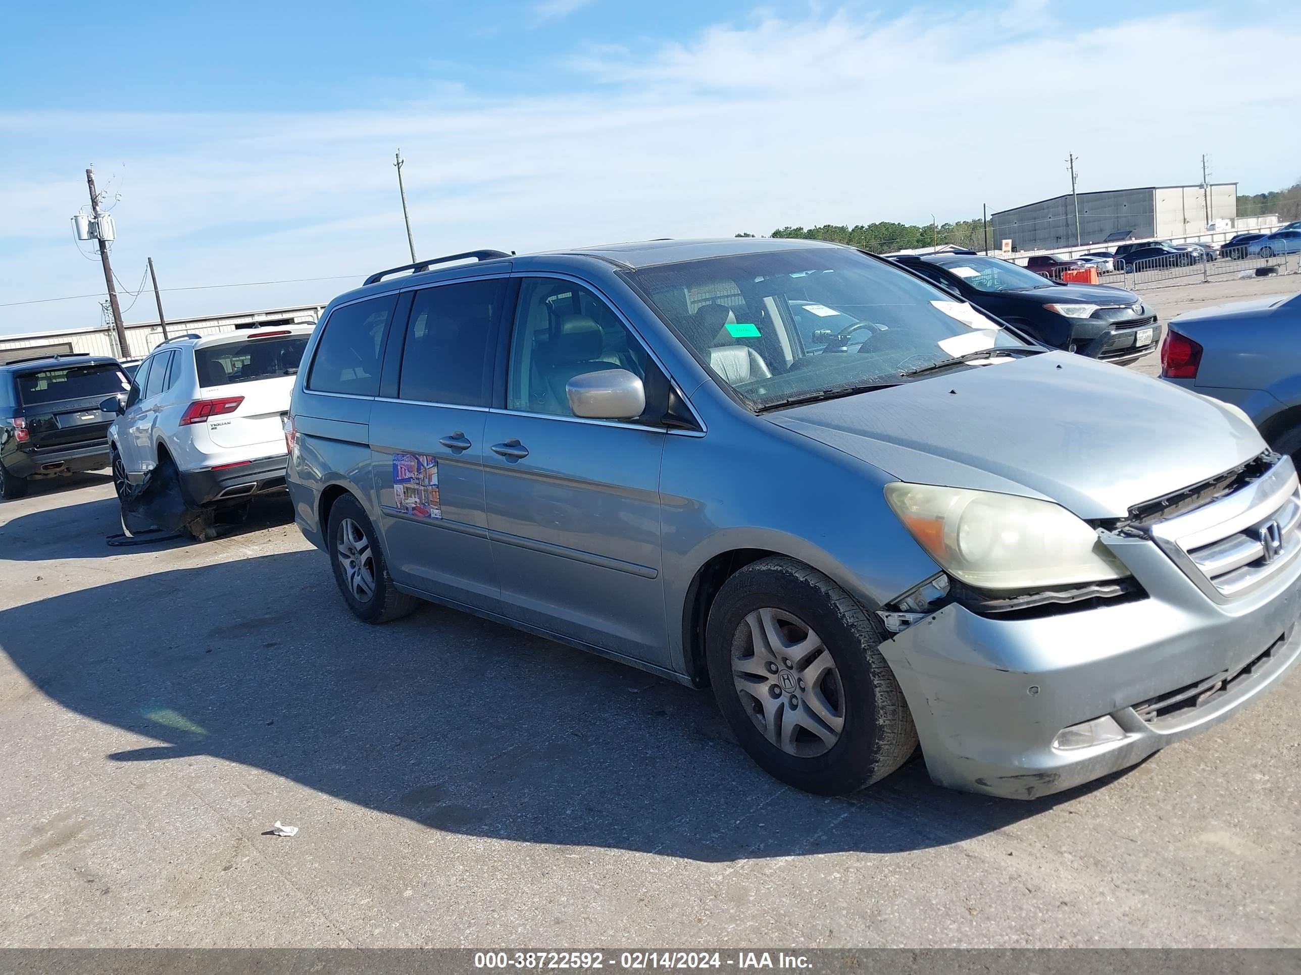
[[[885,491],[930,558],[978,589],[1046,589],[1129,575],[1092,528],[1051,502],[903,481]]]

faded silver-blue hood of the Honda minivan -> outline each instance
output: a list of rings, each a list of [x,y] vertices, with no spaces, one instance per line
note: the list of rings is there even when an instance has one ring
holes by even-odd
[[[1214,400],[1066,352],[765,419],[903,481],[1045,498],[1084,519],[1121,517],[1265,450]]]

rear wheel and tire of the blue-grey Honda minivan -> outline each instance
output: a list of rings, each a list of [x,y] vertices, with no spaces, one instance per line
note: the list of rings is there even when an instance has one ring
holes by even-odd
[[[329,560],[343,602],[363,623],[389,623],[411,615],[420,601],[393,584],[379,534],[353,495],[329,511]]]

